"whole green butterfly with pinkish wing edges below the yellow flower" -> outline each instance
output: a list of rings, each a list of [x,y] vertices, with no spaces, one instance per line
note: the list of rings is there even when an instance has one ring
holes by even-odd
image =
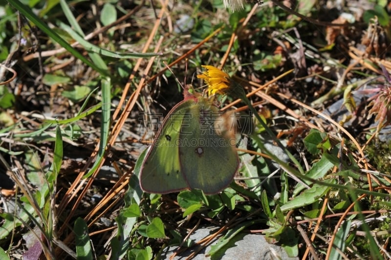
[[[224,114],[225,115],[225,114]],[[163,120],[140,169],[144,192],[200,189],[217,194],[239,167],[235,119],[221,116],[213,97],[184,90],[184,100]]]

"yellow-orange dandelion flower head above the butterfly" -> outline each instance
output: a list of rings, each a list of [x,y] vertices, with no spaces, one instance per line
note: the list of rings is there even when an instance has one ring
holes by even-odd
[[[208,85],[208,95],[225,94],[230,87],[230,78],[227,73],[221,71],[215,66],[202,65],[206,71],[203,74],[197,75],[198,79],[202,79]]]

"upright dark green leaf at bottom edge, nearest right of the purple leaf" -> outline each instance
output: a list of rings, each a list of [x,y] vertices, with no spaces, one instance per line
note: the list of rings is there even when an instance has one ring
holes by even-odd
[[[73,228],[76,242],[76,254],[79,260],[92,260],[91,244],[88,236],[88,227],[86,221],[77,218]]]

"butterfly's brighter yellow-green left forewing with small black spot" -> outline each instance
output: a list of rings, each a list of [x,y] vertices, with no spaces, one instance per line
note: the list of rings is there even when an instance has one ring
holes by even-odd
[[[141,166],[140,186],[148,193],[166,194],[188,188],[179,163],[179,136],[193,100],[181,101],[163,120]]]

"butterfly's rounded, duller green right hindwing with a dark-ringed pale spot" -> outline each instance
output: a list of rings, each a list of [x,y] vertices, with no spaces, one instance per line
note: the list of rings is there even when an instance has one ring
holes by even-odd
[[[216,127],[220,112],[206,98],[193,101],[190,118],[182,120],[180,168],[191,189],[217,194],[226,188],[239,167],[235,136]]]

